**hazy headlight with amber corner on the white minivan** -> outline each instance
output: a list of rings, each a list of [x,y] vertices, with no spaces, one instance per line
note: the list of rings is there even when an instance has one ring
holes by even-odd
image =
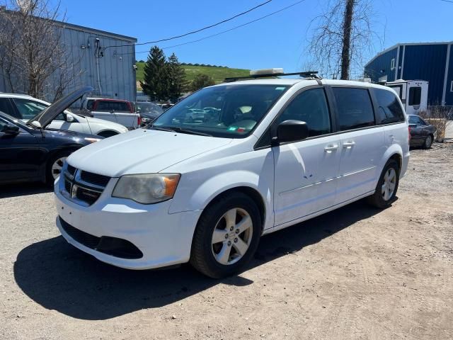
[[[151,204],[173,198],[180,174],[140,174],[121,176],[112,197],[128,198],[137,203]]]

